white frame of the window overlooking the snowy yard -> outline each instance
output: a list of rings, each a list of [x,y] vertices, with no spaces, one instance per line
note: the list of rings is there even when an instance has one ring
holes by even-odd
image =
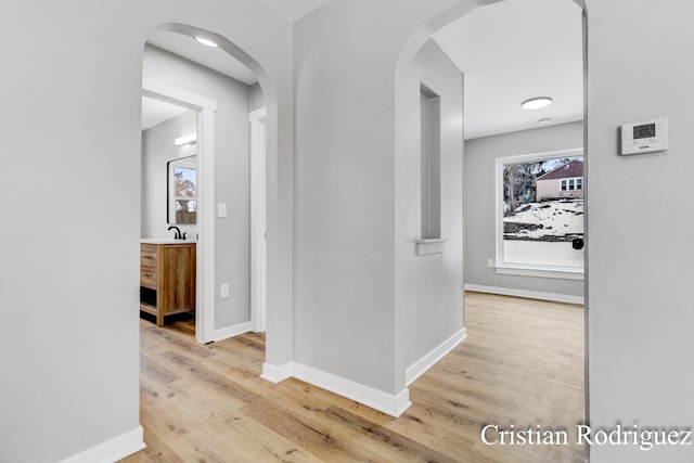
[[[564,280],[583,280],[583,273],[584,273],[583,268],[538,266],[538,265],[530,265],[530,263],[509,263],[503,261],[503,166],[506,164],[523,164],[523,163],[532,163],[532,162],[542,160],[542,159],[552,159],[557,157],[576,157],[576,156],[584,156],[582,147],[497,158],[497,168],[494,170],[496,188],[497,188],[496,190],[497,191],[496,224],[494,224],[497,242],[496,242],[494,270],[497,273],[524,275],[524,276],[555,278],[555,279],[564,279]],[[568,188],[568,181],[566,183],[566,187]],[[581,182],[581,187],[582,187],[582,182]]]

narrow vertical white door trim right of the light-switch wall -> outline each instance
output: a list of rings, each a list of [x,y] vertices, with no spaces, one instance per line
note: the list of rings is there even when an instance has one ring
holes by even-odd
[[[267,118],[265,107],[248,115],[250,121],[250,321],[253,331],[267,330]]]

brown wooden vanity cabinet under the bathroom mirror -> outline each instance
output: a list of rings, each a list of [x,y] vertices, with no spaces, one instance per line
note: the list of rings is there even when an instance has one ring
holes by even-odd
[[[164,317],[195,310],[195,243],[140,244],[140,310]]]

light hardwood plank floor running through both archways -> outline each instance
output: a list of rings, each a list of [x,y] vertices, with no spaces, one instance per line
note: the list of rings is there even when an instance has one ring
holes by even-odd
[[[487,424],[573,436],[583,422],[582,308],[479,293],[465,308],[467,338],[410,386],[399,419],[297,380],[261,380],[262,335],[201,346],[190,320],[143,320],[147,448],[121,462],[582,462],[576,445],[480,439]]]

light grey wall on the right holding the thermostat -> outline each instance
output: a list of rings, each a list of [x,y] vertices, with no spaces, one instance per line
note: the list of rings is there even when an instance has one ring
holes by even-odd
[[[694,3],[591,0],[588,14],[590,419],[691,427]],[[620,125],[659,116],[670,120],[669,150],[619,156]],[[694,446],[596,446],[591,455],[689,462]]]

